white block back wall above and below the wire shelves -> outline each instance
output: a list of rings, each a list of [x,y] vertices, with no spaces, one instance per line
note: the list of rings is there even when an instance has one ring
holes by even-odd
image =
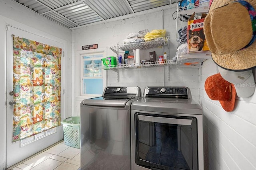
[[[172,14],[176,11],[177,4],[170,6],[170,9],[159,10],[158,12],[147,13],[141,16],[135,16],[125,20],[118,20],[99,25],[92,25],[72,30],[72,46],[73,56],[76,56],[76,51],[80,51],[83,45],[98,44],[98,48],[106,48],[107,56],[117,55],[109,49],[112,45],[122,43],[129,33],[136,33],[139,30],[148,29],[166,29],[166,35],[170,35],[170,45],[168,47],[146,49],[141,51],[141,60],[149,59],[149,52],[156,51],[156,56],[164,54],[170,49],[170,59],[175,56],[176,43],[176,20],[172,19]],[[163,16],[163,18],[162,18]],[[174,15],[175,16],[175,15]],[[163,21],[163,22],[162,22]],[[120,53],[123,54],[124,53]],[[133,52],[130,51],[133,55]],[[72,63],[76,63],[75,61]],[[74,69],[78,65],[73,65]],[[75,72],[75,70],[73,70]],[[73,80],[80,81],[80,75],[73,76]],[[170,81],[168,80],[168,67],[153,67],[120,70],[119,81],[117,81],[117,73],[107,71],[107,86],[139,86],[142,91],[146,86],[188,86],[191,89],[192,96],[196,102],[199,102],[199,69],[185,67],[171,67]],[[78,88],[76,88],[78,89]],[[85,99],[79,96],[79,92],[73,89],[72,108],[73,115],[80,115],[80,102]]]

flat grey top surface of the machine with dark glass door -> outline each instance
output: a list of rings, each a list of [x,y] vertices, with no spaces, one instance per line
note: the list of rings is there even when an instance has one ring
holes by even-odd
[[[202,107],[191,99],[144,97],[132,102],[131,109],[158,113],[202,115]]]

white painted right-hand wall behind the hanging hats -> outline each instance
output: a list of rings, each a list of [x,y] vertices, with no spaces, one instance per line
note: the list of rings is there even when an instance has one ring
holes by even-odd
[[[206,78],[216,73],[217,66],[212,60],[204,62],[199,88],[204,112],[205,170],[255,170],[256,94],[249,98],[236,96],[234,110],[224,111],[204,90]]]

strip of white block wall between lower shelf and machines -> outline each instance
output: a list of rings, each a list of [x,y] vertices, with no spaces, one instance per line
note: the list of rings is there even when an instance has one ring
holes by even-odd
[[[117,73],[108,71],[108,86],[139,86],[143,91],[147,86],[187,86],[190,88],[192,98],[199,102],[199,69],[170,67],[170,80],[168,78],[168,67],[152,67],[128,69]],[[164,73],[163,73],[164,72]]]

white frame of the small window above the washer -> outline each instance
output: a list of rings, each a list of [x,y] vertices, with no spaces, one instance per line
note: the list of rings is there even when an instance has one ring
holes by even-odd
[[[100,49],[90,49],[90,50],[82,50],[82,51],[77,51],[77,60],[76,60],[76,80],[79,82],[76,87],[76,94],[77,96],[87,96],[88,98],[92,97],[98,97],[101,96],[102,94],[83,94],[83,79],[85,78],[84,76],[84,56],[85,55],[93,55],[93,54],[103,54],[103,58],[106,58],[107,56],[107,49],[106,48],[100,48]],[[96,58],[93,58],[96,59]],[[101,59],[101,58],[99,58]],[[90,59],[88,59],[90,60]],[[106,70],[102,69],[102,77],[86,77],[86,78],[102,78],[103,80],[103,89],[106,87],[107,80],[106,80]]]

